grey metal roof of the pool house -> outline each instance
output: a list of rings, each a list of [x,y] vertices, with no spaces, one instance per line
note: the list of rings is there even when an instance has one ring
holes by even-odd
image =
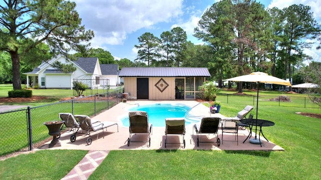
[[[123,67],[120,77],[187,77],[211,76],[206,67]]]

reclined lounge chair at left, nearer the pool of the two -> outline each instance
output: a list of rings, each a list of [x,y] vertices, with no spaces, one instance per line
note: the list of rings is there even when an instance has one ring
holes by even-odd
[[[81,131],[76,131],[74,134],[71,135],[70,137],[70,141],[71,142],[75,142],[76,141],[76,134],[82,134],[83,136],[89,136],[86,139],[86,143],[87,145],[90,145],[92,142],[91,136],[90,136],[90,132],[97,132],[99,130],[102,130],[102,136],[104,137],[104,128],[113,126],[113,125],[117,125],[117,132],[118,132],[118,124],[116,122],[110,122],[110,121],[97,121],[97,120],[92,120],[90,117],[86,116],[86,115],[75,115],[75,118],[78,119],[79,125],[81,127]],[[85,131],[85,132],[83,132]],[[98,134],[97,133],[97,139],[98,139]]]

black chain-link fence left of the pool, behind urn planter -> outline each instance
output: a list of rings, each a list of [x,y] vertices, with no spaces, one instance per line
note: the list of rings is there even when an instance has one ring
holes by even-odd
[[[59,120],[59,113],[96,116],[121,102],[122,89],[112,93],[75,98],[38,107],[0,112],[0,156],[32,150],[48,139],[47,121]]]

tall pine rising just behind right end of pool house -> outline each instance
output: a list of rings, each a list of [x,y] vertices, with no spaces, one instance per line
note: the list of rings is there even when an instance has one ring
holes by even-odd
[[[229,64],[229,60],[233,59],[231,58],[232,49],[234,49],[232,44],[234,38],[232,6],[232,2],[227,0],[213,4],[203,14],[198,27],[194,29],[194,36],[202,39],[212,48],[207,50],[213,56],[208,59],[207,66],[211,74],[215,76],[215,80],[219,80],[220,87],[222,85],[223,68],[233,68],[232,66],[224,66],[224,64]]]

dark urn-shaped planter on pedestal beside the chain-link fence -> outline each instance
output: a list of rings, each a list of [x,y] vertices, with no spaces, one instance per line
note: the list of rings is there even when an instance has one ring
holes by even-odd
[[[49,135],[53,136],[53,139],[49,144],[49,148],[52,148],[55,145],[61,146],[57,136],[60,135],[60,129],[64,122],[65,121],[48,121],[44,123],[44,125],[46,125],[49,130]]]

